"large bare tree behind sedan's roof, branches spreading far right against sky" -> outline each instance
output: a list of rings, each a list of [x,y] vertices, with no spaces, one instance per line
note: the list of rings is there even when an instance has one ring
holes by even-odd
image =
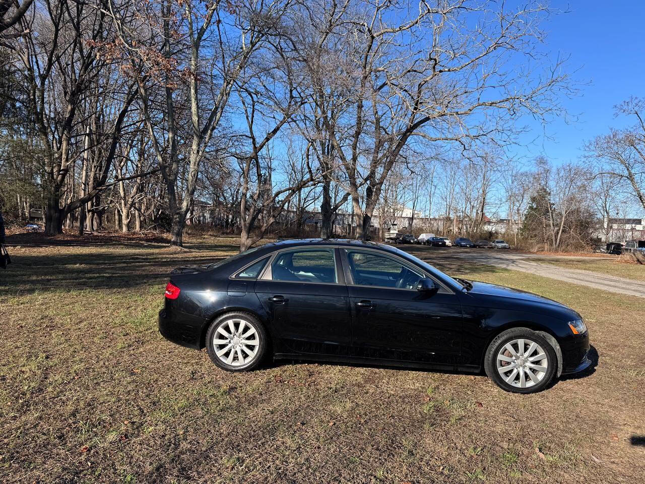
[[[568,90],[562,61],[544,77],[506,68],[518,55],[541,56],[539,23],[547,12],[539,3],[506,10],[489,1],[421,3],[413,15],[393,3],[352,12],[352,117],[344,130],[327,128],[348,177],[358,238],[408,143],[501,138],[512,134],[507,121],[518,112],[544,117],[559,110],[552,95]]]

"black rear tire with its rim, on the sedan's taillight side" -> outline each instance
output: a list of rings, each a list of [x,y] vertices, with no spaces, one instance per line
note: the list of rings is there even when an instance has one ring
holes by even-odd
[[[240,339],[240,336],[246,338]],[[263,324],[248,312],[222,314],[206,332],[208,356],[215,365],[230,372],[257,368],[266,356],[269,343]]]

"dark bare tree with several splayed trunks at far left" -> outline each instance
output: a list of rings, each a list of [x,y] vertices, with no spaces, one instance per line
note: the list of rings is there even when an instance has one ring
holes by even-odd
[[[45,153],[41,168],[45,232],[54,235],[61,233],[68,214],[110,186],[123,121],[136,92],[134,86],[117,81],[114,63],[97,55],[97,43],[111,28],[103,12],[86,3],[47,0],[30,22],[24,24],[29,33],[16,39],[14,46],[29,86],[25,107]],[[98,102],[114,110],[98,115]],[[103,121],[100,130],[97,119]],[[88,134],[88,126],[96,136]],[[79,159],[87,161],[88,150],[98,150],[102,169],[94,187],[75,197],[68,175]]]

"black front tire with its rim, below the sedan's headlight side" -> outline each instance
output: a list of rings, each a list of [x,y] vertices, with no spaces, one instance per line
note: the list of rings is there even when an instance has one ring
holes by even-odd
[[[506,367],[508,370],[501,369]],[[484,357],[488,377],[502,390],[513,393],[544,390],[553,380],[557,367],[558,359],[551,343],[529,328],[511,328],[500,333],[488,345]]]

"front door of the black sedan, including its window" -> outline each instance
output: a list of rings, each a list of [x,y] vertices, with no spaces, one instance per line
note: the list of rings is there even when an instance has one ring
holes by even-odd
[[[457,364],[462,310],[452,289],[417,291],[427,277],[399,257],[381,251],[342,249],[355,356],[422,363]]]

